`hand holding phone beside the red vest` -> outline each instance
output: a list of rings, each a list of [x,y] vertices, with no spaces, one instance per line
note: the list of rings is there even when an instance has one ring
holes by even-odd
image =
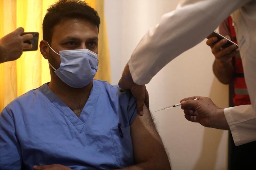
[[[230,37],[225,36],[230,40]],[[232,61],[232,57],[239,53],[239,50],[236,49],[236,45],[230,45],[227,48],[223,48],[223,46],[228,43],[226,39],[222,39],[217,42],[217,37],[211,37],[206,41],[206,44],[211,47],[212,54],[215,56],[216,60],[221,64],[225,65]]]

